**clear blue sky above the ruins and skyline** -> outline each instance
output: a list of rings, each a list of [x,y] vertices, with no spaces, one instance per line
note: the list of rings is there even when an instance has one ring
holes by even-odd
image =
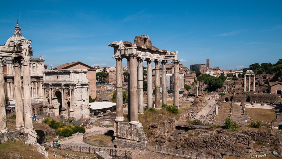
[[[153,46],[178,51],[184,66],[242,69],[282,58],[282,1],[3,1],[0,45],[16,19],[33,57],[59,66],[81,61],[115,66],[113,41],[149,35]],[[123,66],[127,61],[123,60]],[[146,62],[144,62],[144,66]]]

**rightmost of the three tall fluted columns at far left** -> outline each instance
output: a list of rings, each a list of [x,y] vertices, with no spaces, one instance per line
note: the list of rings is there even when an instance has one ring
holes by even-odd
[[[32,108],[31,108],[31,87],[30,87],[30,57],[23,56],[23,71],[24,71],[24,124],[25,131],[34,131],[32,125]]]

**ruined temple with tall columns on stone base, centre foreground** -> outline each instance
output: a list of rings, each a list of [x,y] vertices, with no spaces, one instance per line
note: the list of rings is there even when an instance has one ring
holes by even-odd
[[[143,61],[147,61],[147,108],[153,107],[152,62],[155,64],[155,109],[160,109],[160,63],[162,70],[162,90],[166,90],[166,63],[174,64],[174,105],[179,102],[179,62],[177,51],[160,50],[152,45],[148,35],[136,36],[134,43],[115,41],[109,46],[114,48],[113,58],[117,69],[117,117],[115,136],[119,140],[146,141],[142,123],[138,121],[138,113],[144,113],[143,104]],[[123,117],[122,95],[122,60],[128,62],[128,116],[129,123],[121,122]],[[162,104],[166,104],[166,91],[162,91]],[[116,140],[115,139],[115,140]]]

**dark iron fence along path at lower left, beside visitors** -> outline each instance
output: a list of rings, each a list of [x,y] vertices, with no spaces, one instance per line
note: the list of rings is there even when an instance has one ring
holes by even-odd
[[[87,154],[95,154],[96,152],[103,151],[106,154],[119,157],[121,159],[132,159],[132,152],[130,151],[122,151],[122,150],[114,150],[114,149],[107,149],[107,148],[92,148],[92,147],[81,147],[81,146],[69,146],[69,145],[56,145],[54,142],[45,142],[44,146],[49,146],[52,148],[57,148],[60,150],[65,151],[72,151],[72,152],[80,152],[80,153],[87,153]]]

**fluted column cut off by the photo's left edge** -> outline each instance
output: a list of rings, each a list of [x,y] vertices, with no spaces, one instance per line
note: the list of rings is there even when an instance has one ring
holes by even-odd
[[[5,108],[5,82],[4,82],[4,58],[0,56],[0,133],[4,134],[8,132],[6,122],[6,108]]]

